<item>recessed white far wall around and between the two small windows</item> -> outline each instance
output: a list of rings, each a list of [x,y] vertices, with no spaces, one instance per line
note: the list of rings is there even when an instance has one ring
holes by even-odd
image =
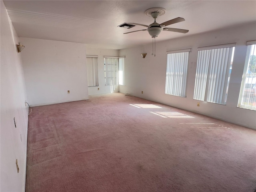
[[[92,48],[90,45],[86,46],[86,55],[97,55],[98,56],[98,77],[99,86],[88,87],[88,94],[101,94],[119,92],[119,86],[105,86],[105,74],[104,74],[104,56],[118,56],[118,50],[112,49],[98,49]],[[100,90],[98,90],[98,88]]]

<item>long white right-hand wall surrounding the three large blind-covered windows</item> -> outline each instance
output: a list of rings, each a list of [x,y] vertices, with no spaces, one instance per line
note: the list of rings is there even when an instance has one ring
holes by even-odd
[[[122,93],[130,93],[140,98],[198,112],[256,129],[256,112],[237,107],[246,56],[246,41],[249,40],[256,40],[255,23],[165,42],[157,42],[156,57],[151,55],[151,44],[120,50],[120,55],[126,56],[126,86],[120,86],[119,90]],[[194,100],[197,48],[228,43],[237,44],[226,105]],[[188,60],[187,97],[182,98],[164,94],[167,61],[166,51],[186,48],[192,48]],[[147,53],[144,59],[140,56],[142,52]],[[143,91],[143,94],[141,94],[141,91]],[[196,106],[197,102],[200,102],[200,107]]]

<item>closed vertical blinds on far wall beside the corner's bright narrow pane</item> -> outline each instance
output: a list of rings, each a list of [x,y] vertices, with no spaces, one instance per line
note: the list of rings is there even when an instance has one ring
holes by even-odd
[[[118,85],[118,58],[104,58],[105,85]]]

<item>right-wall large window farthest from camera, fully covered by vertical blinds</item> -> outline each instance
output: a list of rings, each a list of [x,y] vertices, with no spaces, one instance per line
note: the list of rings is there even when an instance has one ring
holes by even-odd
[[[167,52],[165,94],[186,97],[188,53],[191,49]]]

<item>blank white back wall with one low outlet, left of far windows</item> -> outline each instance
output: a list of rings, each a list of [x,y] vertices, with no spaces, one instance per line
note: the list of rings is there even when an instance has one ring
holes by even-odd
[[[88,99],[86,44],[34,38],[20,42],[30,106]]]

